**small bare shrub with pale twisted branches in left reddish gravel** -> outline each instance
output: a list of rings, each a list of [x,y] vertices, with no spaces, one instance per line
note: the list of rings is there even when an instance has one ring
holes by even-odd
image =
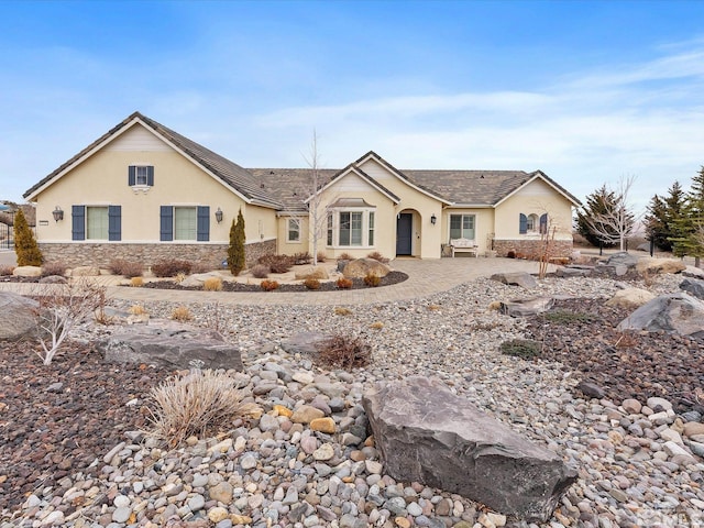
[[[38,341],[36,354],[51,365],[63,342],[96,310],[105,315],[106,287],[90,282],[51,284],[38,290]]]

